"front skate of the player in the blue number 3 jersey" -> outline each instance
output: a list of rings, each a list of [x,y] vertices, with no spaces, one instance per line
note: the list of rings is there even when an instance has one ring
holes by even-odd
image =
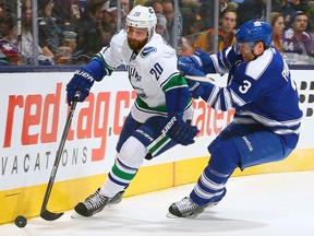
[[[174,202],[169,208],[168,217],[196,217],[204,212],[206,205],[198,205],[191,198],[185,197],[179,202]]]

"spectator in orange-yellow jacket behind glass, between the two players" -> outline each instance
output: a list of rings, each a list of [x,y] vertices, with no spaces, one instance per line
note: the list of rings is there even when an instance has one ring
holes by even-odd
[[[222,48],[232,46],[235,40],[233,30],[237,25],[237,12],[232,9],[226,9],[219,16],[219,23],[218,50],[221,51]],[[209,28],[198,37],[194,47],[214,54],[214,37],[215,28]]]

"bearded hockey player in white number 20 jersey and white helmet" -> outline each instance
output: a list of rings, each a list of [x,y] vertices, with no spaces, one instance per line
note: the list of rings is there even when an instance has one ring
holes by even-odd
[[[120,133],[108,178],[74,208],[83,216],[92,216],[107,204],[121,201],[144,158],[153,158],[178,143],[192,144],[198,132],[190,125],[192,98],[178,70],[176,50],[155,33],[156,23],[153,8],[133,8],[126,16],[125,30],[118,32],[109,46],[76,71],[67,85],[69,105],[76,91],[81,91],[83,102],[94,81],[101,81],[114,68],[125,64],[137,95]]]

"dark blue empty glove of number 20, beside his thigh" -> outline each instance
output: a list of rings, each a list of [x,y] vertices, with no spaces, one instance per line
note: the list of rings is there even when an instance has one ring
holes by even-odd
[[[179,114],[169,116],[162,133],[166,133],[174,142],[190,145],[195,142],[194,138],[200,132],[197,127],[191,126],[182,120]]]

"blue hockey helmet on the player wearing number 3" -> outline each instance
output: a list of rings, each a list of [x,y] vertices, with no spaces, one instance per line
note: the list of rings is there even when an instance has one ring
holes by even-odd
[[[252,20],[240,26],[235,33],[237,43],[263,42],[265,47],[269,47],[273,42],[273,28],[262,20]]]

